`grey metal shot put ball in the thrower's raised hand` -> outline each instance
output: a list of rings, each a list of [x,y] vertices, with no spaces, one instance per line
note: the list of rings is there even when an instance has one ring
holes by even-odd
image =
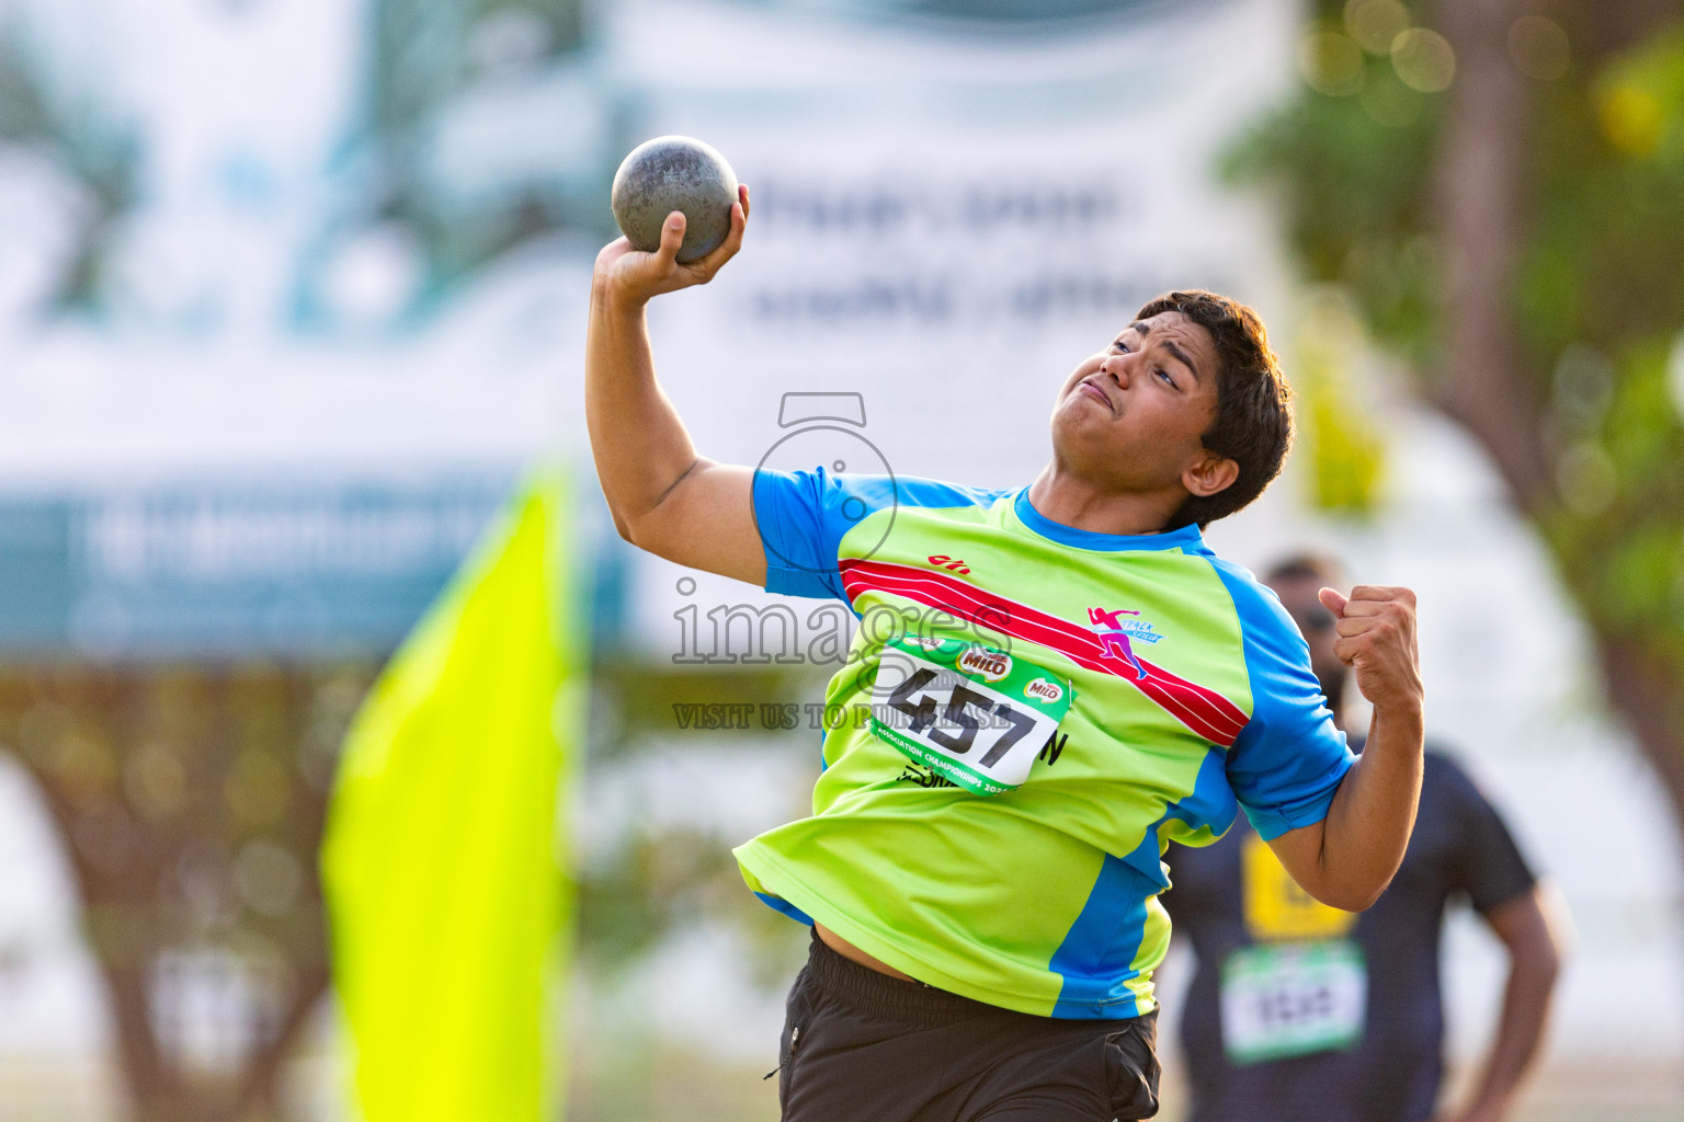
[[[690,136],[645,140],[615,172],[610,192],[620,232],[645,252],[660,249],[662,222],[682,210],[682,262],[706,257],[726,239],[734,202],[736,172],[711,145]]]

